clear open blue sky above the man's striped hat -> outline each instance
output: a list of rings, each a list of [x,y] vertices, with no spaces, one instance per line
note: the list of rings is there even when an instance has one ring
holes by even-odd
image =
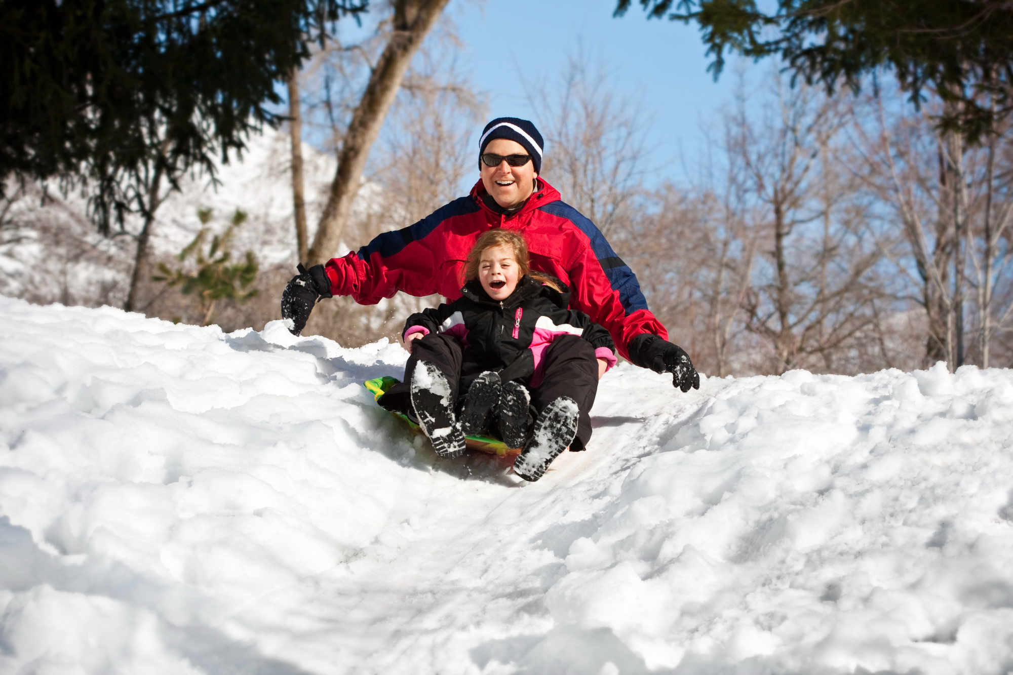
[[[462,61],[475,84],[490,94],[493,117],[536,120],[524,81],[552,81],[569,55],[582,51],[610,71],[608,86],[639,96],[650,163],[669,177],[682,177],[681,156],[699,156],[701,122],[730,99],[731,61],[717,82],[695,25],[647,20],[639,6],[613,18],[615,0],[452,0],[447,12],[464,41]],[[763,64],[746,66],[747,77]],[[551,148],[547,148],[551,152]],[[659,176],[660,177],[660,176]]]

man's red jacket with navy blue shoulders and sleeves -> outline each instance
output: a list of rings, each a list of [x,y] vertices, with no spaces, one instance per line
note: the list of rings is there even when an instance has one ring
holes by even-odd
[[[539,190],[517,213],[503,216],[482,200],[479,180],[468,197],[454,200],[414,225],[384,232],[344,257],[325,266],[331,293],[350,295],[371,305],[398,291],[426,296],[461,297],[464,266],[478,235],[493,227],[522,232],[528,240],[531,268],[558,277],[570,287],[570,308],[605,326],[619,353],[629,358],[635,335],[652,332],[668,340],[665,326],[647,309],[633,271],[601,231],[542,178]]]

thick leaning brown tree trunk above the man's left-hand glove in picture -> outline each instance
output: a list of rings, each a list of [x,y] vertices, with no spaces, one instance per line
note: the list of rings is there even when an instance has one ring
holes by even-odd
[[[380,128],[394,102],[411,58],[448,2],[449,0],[396,0],[394,31],[373,69],[341,144],[327,206],[324,207],[316,236],[313,237],[313,247],[309,251],[311,265],[325,262],[335,254],[348,220],[352,201],[359,192],[370,148],[380,134]]]

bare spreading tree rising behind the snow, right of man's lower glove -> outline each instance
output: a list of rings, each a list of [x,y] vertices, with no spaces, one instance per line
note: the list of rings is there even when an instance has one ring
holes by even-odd
[[[770,346],[774,372],[839,363],[874,321],[880,252],[860,236],[857,182],[840,166],[837,138],[849,111],[834,98],[775,76],[776,97],[748,108],[739,97],[729,161],[747,178],[747,208],[771,248],[751,271],[747,328]],[[848,360],[845,359],[847,362]]]

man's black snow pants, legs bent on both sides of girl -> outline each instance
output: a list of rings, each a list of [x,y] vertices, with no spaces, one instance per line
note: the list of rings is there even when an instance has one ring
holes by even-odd
[[[461,380],[461,366],[464,357],[464,346],[461,341],[443,333],[430,333],[411,344],[411,356],[404,368],[404,381],[391,387],[380,397],[379,403],[388,410],[407,414],[411,410],[411,397],[408,383],[419,361],[427,361],[440,369],[450,383],[454,400],[461,394],[462,384],[470,385],[474,378]],[[541,415],[549,403],[560,396],[569,396],[576,401],[579,416],[577,418],[576,437],[570,444],[570,450],[583,450],[591,440],[591,407],[595,404],[595,394],[598,393],[598,359],[595,349],[586,340],[576,335],[560,335],[542,353],[542,380],[538,386],[528,386],[528,381],[521,383],[528,386],[531,392],[531,405],[537,415]],[[412,411],[413,414],[413,411]]]

